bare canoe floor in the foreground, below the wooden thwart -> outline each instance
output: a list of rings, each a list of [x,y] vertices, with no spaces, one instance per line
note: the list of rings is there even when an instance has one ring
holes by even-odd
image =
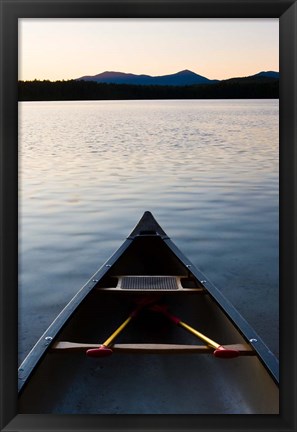
[[[255,359],[234,359],[231,368],[200,355],[137,355],[135,361],[134,354],[115,353],[94,363],[71,354],[65,368],[65,354],[58,356],[54,367],[46,360],[47,373],[21,398],[19,413],[278,414],[273,385],[259,364],[251,365]]]

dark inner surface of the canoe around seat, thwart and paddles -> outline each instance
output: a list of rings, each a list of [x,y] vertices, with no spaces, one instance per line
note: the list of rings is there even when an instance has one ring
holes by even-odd
[[[119,275],[183,276],[192,291],[109,290]],[[220,344],[246,343],[199,281],[156,236],[135,239],[87,295],[57,341],[101,344],[145,295]],[[148,308],[116,344],[202,344]],[[83,351],[48,351],[19,397],[25,414],[278,414],[278,387],[257,356],[223,360],[209,354],[114,352],[89,358]]]

